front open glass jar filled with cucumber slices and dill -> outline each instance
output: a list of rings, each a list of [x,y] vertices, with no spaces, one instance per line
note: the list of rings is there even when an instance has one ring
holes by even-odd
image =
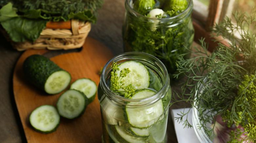
[[[103,143],[166,143],[171,87],[158,58],[142,52],[113,57],[97,93]]]

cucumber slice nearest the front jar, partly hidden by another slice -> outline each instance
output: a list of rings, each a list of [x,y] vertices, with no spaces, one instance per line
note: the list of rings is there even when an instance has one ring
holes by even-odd
[[[89,78],[80,78],[71,84],[70,89],[76,89],[83,92],[89,99],[89,103],[91,103],[96,97],[97,85]]]

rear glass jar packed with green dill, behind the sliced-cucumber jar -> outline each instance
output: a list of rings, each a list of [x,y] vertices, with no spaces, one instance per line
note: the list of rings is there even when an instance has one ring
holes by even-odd
[[[164,0],[155,0],[153,8],[165,9],[168,4],[162,5],[162,1]],[[186,2],[187,8],[180,14],[168,17],[164,11],[163,15],[167,16],[159,19],[136,12],[132,0],[125,2],[126,12],[122,29],[124,51],[138,51],[156,56],[167,68],[171,80],[174,80],[173,75],[177,71],[177,55],[186,53],[185,46],[190,49],[194,40],[191,18],[193,2]]]

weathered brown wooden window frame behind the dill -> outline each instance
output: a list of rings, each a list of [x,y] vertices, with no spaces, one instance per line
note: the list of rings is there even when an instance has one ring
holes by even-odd
[[[210,28],[214,24],[223,21],[226,16],[231,16],[235,0],[209,0],[209,6],[202,4],[199,0],[193,0],[194,8],[192,12],[192,20],[195,29],[194,41],[199,42],[204,38],[208,43],[208,50],[212,52],[218,45],[214,40],[222,39],[222,37],[212,37]],[[228,41],[219,41],[228,46]]]

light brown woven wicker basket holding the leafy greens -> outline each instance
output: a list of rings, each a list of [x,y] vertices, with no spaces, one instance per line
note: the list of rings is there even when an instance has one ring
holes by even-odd
[[[18,51],[45,48],[49,50],[68,50],[82,47],[90,30],[90,22],[80,22],[72,19],[70,29],[51,29],[46,27],[34,42],[13,42],[10,38],[7,37],[7,39],[11,41],[13,48]]]

